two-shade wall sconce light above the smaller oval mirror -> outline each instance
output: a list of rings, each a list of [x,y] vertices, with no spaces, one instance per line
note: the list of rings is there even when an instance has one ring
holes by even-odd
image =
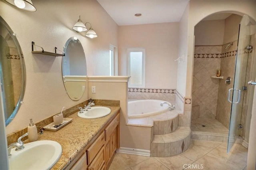
[[[89,30],[86,28],[86,24],[90,24],[90,29]],[[89,38],[96,38],[96,37],[98,37],[96,32],[92,29],[92,24],[90,22],[86,22],[84,24],[82,22],[82,20],[80,19],[80,16],[79,16],[78,21],[76,22],[76,24],[72,28],[76,32],[86,32],[88,30],[87,33],[85,34],[86,37],[89,37]]]

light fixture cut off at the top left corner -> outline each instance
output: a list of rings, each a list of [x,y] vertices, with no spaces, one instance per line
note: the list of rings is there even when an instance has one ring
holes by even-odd
[[[21,10],[35,12],[36,7],[32,4],[31,0],[5,0],[9,4],[20,8]]]

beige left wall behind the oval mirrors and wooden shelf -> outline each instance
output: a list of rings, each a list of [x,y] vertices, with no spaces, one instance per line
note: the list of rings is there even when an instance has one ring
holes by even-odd
[[[54,52],[76,36],[85,51],[88,75],[96,75],[102,67],[98,62],[109,57],[109,44],[118,45],[118,26],[96,0],[36,0],[36,12],[26,12],[0,1],[0,15],[16,33],[26,65],[26,90],[23,104],[15,119],[6,127],[7,134],[26,128],[29,119],[34,122],[59,113],[62,107],[72,107],[88,99],[88,91],[79,101],[66,94],[62,81],[62,57],[31,53],[31,42]],[[90,39],[72,30],[79,15],[90,22],[98,38]],[[39,50],[36,47],[35,50]]]

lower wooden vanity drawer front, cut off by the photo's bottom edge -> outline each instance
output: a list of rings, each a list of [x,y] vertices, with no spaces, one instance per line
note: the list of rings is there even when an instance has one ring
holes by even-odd
[[[100,149],[100,152],[97,154],[95,159],[92,161],[88,170],[101,170],[105,169],[105,160],[104,160],[104,147]]]

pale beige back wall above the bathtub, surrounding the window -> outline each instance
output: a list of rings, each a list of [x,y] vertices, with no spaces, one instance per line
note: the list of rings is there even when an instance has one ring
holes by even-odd
[[[126,48],[146,49],[145,87],[176,89],[179,23],[118,27],[119,75],[126,75]]]

